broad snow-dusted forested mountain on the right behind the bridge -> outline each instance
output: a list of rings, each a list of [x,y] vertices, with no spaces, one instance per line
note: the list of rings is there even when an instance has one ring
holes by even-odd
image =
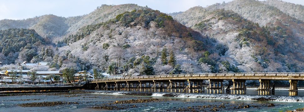
[[[303,21],[275,7],[254,0],[235,0],[192,7],[173,18],[224,44],[227,52],[216,57],[218,62],[228,61],[244,72],[304,69]]]

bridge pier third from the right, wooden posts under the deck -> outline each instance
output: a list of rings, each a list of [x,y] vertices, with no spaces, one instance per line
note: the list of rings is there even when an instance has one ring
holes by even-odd
[[[246,80],[232,79],[232,82],[231,94],[246,94]]]

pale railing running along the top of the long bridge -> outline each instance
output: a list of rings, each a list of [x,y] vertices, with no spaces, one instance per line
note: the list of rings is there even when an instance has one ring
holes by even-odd
[[[146,79],[146,78],[169,78],[169,77],[300,77],[304,76],[304,73],[195,73],[195,74],[171,74],[171,75],[152,75],[152,76],[133,76],[133,77],[119,77],[119,78],[104,78],[93,79],[95,81],[109,81],[109,80],[126,80],[126,79]]]

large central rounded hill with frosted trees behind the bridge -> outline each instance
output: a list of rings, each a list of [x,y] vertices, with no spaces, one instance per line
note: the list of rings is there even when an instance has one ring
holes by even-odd
[[[210,71],[198,62],[203,53],[210,55],[210,40],[157,10],[124,12],[81,28],[64,43],[69,45],[59,48],[62,67],[96,68],[112,75]]]

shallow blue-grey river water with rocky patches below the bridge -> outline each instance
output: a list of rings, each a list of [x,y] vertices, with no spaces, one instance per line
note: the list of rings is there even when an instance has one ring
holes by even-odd
[[[304,107],[304,90],[299,90],[299,96],[288,96],[288,90],[276,90],[275,96],[259,96],[257,91],[247,90],[246,95],[204,94],[204,93],[162,93],[154,92],[150,96],[126,95],[125,91],[85,91],[86,93],[36,93],[0,96],[0,112],[98,112],[98,111],[204,111],[209,112],[216,107],[225,112],[279,112],[296,110]],[[171,96],[171,97],[165,97]],[[114,104],[115,101],[136,99],[159,99],[146,103]],[[265,101],[271,100],[271,101]],[[19,104],[33,102],[65,101],[77,104],[65,104],[44,107],[21,107]],[[273,104],[274,106],[268,107]],[[95,106],[123,107],[119,110],[93,109]],[[221,106],[220,106],[221,105]],[[223,108],[222,106],[225,105]],[[243,108],[250,105],[249,108]],[[205,106],[205,107],[204,107]],[[209,107],[208,107],[209,106]],[[222,107],[222,108],[219,108]]]

